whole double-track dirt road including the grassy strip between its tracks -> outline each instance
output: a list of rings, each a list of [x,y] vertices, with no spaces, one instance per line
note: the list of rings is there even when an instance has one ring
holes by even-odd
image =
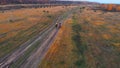
[[[63,23],[72,12],[73,11],[68,11],[63,14],[56,22]],[[37,68],[58,33],[59,29],[55,28],[55,23],[5,57],[0,62],[0,68]],[[36,49],[32,51],[32,47],[36,47]]]

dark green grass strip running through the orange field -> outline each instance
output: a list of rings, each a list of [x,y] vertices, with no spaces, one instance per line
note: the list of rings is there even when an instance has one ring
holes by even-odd
[[[73,17],[73,36],[72,40],[74,44],[76,45],[76,53],[78,54],[78,60],[74,63],[78,68],[86,68],[86,61],[84,53],[87,49],[87,46],[84,42],[82,42],[82,37],[80,35],[80,32],[82,31],[81,25],[78,24],[77,18]]]

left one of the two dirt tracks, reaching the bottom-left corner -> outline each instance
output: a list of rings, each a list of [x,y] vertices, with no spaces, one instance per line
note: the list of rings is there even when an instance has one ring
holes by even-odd
[[[54,23],[51,26],[46,28],[41,33],[39,33],[39,35],[35,36],[33,39],[30,39],[26,43],[22,44],[19,48],[17,48],[11,54],[5,56],[2,60],[0,60],[0,68],[7,68],[9,65],[11,65],[11,63],[13,63],[21,55],[23,55],[36,42],[44,39],[45,35],[48,34],[48,32],[50,32],[51,30],[54,29]]]

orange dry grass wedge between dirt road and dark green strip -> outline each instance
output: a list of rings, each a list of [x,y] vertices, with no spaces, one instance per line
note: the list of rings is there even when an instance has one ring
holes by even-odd
[[[71,68],[74,66],[77,56],[73,53],[76,47],[73,46],[71,40],[72,31],[70,22],[70,19],[68,19],[63,24],[40,68]]]

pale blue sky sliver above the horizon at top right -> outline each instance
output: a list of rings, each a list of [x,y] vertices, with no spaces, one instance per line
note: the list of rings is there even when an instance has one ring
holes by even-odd
[[[70,0],[70,1],[90,1],[90,2],[99,2],[99,3],[115,3],[115,4],[120,4],[120,0]]]

